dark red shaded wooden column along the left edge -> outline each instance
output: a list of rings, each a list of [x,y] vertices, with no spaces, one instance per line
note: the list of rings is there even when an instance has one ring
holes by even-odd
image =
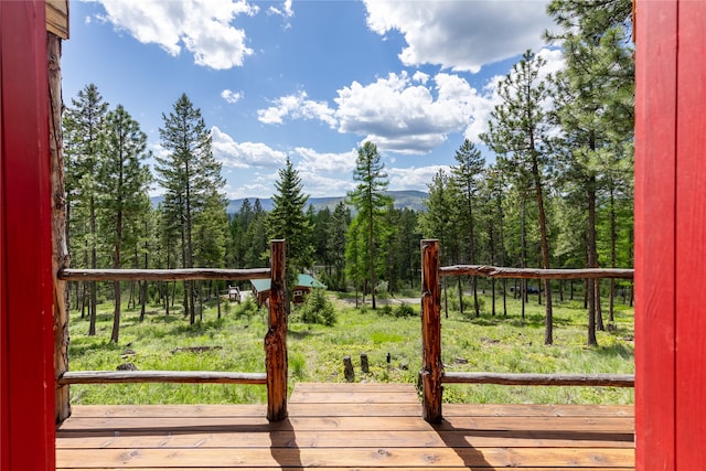
[[[0,470],[54,469],[44,1],[0,1]]]

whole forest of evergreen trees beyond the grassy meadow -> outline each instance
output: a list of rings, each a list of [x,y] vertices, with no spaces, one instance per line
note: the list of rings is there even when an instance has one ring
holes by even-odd
[[[588,4],[590,3],[590,8]],[[542,75],[543,58],[532,51],[499,84],[483,143],[489,164],[473,142],[456,151],[456,164],[428,183],[424,211],[395,207],[387,174],[374,142],[357,153],[357,183],[332,211],[315,211],[291,161],[279,171],[274,208],[245,200],[227,214],[221,164],[211,149],[201,110],[186,95],[162,114],[160,143],[151,156],[147,137],[128,111],[111,108],[93,84],[82,89],[64,116],[67,239],[73,267],[255,268],[267,266],[269,240],[285,238],[290,271],[309,270],[329,289],[375,296],[416,288],[419,240],[438,238],[442,265],[510,267],[631,267],[633,257],[634,50],[631,2],[554,0],[548,13],[565,68]],[[157,162],[153,173],[147,159]],[[154,207],[152,182],[164,191]],[[480,314],[479,281],[458,282],[461,311]],[[464,306],[463,283],[472,291]],[[502,285],[501,285],[502,283]],[[498,287],[496,285],[501,285]],[[506,281],[488,281],[492,293]],[[534,287],[546,307],[545,343],[553,342],[552,296],[564,286]],[[612,320],[616,283],[586,283],[588,343],[605,325],[601,288]],[[216,282],[76,283],[73,304],[88,315],[95,333],[98,299],[122,297],[145,317],[148,302],[196,322]],[[523,281],[516,292],[526,296]],[[524,317],[524,303],[523,312]],[[115,303],[111,340],[118,342],[120,303]]]

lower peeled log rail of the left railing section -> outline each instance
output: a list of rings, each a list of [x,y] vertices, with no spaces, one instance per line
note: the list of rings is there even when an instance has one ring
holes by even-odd
[[[212,384],[266,384],[265,373],[235,372],[66,372],[57,385],[67,384],[121,384],[121,383],[212,383]]]

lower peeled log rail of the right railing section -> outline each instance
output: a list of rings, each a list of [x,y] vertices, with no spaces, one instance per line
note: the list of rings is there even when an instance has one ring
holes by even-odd
[[[612,374],[536,374],[448,372],[441,383],[502,384],[509,386],[612,386],[634,387],[634,375]]]

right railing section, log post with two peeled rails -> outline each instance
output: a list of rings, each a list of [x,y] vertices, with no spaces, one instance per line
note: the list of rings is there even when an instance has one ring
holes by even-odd
[[[441,361],[441,290],[443,276],[483,276],[495,278],[539,279],[632,279],[632,269],[539,269],[478,265],[439,266],[439,242],[421,240],[421,387],[422,417],[431,424],[441,421],[443,383],[501,384],[515,386],[613,386],[634,387],[634,375],[612,374],[536,374],[536,373],[461,373],[445,372]]]

